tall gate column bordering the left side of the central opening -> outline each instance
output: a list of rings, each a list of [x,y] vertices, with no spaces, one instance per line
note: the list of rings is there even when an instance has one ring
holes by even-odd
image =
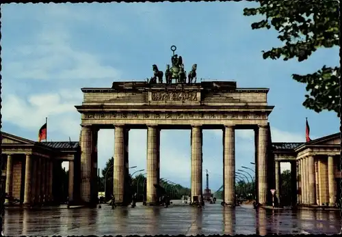
[[[155,205],[158,202],[157,189],[154,184],[159,184],[159,136],[160,130],[157,126],[147,127],[146,204],[148,205]]]

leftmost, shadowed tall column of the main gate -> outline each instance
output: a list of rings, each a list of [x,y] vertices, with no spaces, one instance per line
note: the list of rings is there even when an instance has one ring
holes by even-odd
[[[89,203],[92,180],[92,128],[82,126],[81,133],[81,200]]]

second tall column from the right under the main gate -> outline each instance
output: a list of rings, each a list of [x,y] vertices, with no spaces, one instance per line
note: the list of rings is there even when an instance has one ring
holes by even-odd
[[[235,128],[224,126],[224,204],[235,204]]]

